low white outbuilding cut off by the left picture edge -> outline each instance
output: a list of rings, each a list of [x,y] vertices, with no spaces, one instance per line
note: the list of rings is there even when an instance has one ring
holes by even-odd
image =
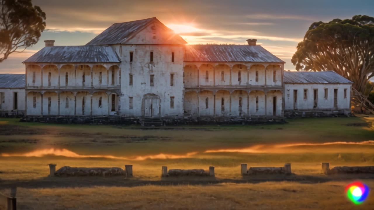
[[[25,112],[25,74],[0,74],[0,116]]]

